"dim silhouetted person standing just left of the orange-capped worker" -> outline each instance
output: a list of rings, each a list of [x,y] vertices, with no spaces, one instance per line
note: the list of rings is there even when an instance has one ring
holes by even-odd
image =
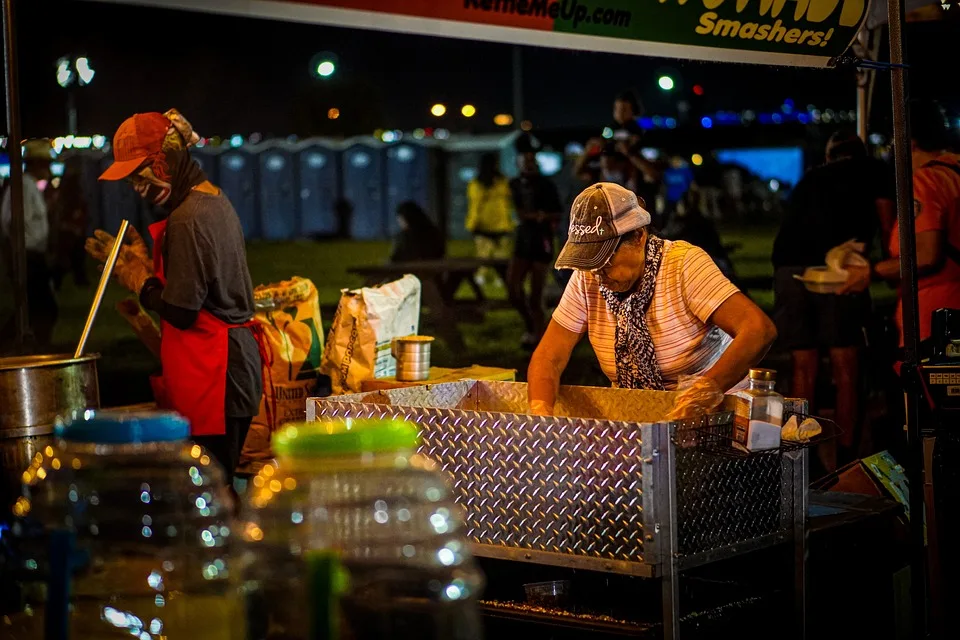
[[[51,220],[57,234],[57,251],[54,256],[54,282],[59,289],[67,273],[73,275],[78,287],[90,284],[87,277],[87,254],[83,244],[87,235],[87,201],[83,195],[81,178],[83,164],[79,157],[73,156],[64,163],[60,186],[54,190]]]

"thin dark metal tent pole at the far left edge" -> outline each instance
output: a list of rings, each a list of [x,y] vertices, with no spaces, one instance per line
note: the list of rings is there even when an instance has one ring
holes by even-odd
[[[23,158],[20,153],[20,87],[17,81],[17,41],[13,0],[3,2],[4,88],[7,94],[7,154],[10,157],[10,263],[13,272],[17,345],[26,343],[30,326],[27,311],[27,251],[23,222]]]

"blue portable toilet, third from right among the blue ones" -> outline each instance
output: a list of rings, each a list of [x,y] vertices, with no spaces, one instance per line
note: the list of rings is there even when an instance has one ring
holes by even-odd
[[[305,140],[297,152],[300,171],[300,233],[332,235],[339,231],[334,205],[340,197],[340,151],[320,138]]]

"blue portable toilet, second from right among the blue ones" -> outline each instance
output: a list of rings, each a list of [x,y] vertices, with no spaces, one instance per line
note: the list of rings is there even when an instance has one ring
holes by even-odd
[[[348,140],[342,156],[343,197],[353,206],[350,237],[387,236],[383,143],[373,138]]]

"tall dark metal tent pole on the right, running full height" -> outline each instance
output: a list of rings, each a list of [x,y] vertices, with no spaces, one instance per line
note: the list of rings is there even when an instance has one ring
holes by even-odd
[[[910,599],[913,613],[912,637],[927,636],[926,550],[923,500],[923,440],[919,423],[919,315],[917,304],[917,246],[914,235],[913,175],[910,162],[910,132],[907,113],[907,78],[904,64],[903,0],[889,0],[887,22],[890,25],[890,85],[893,93],[893,150],[897,185],[897,222],[900,239],[900,296],[903,307],[904,381],[906,430],[910,482]]]

